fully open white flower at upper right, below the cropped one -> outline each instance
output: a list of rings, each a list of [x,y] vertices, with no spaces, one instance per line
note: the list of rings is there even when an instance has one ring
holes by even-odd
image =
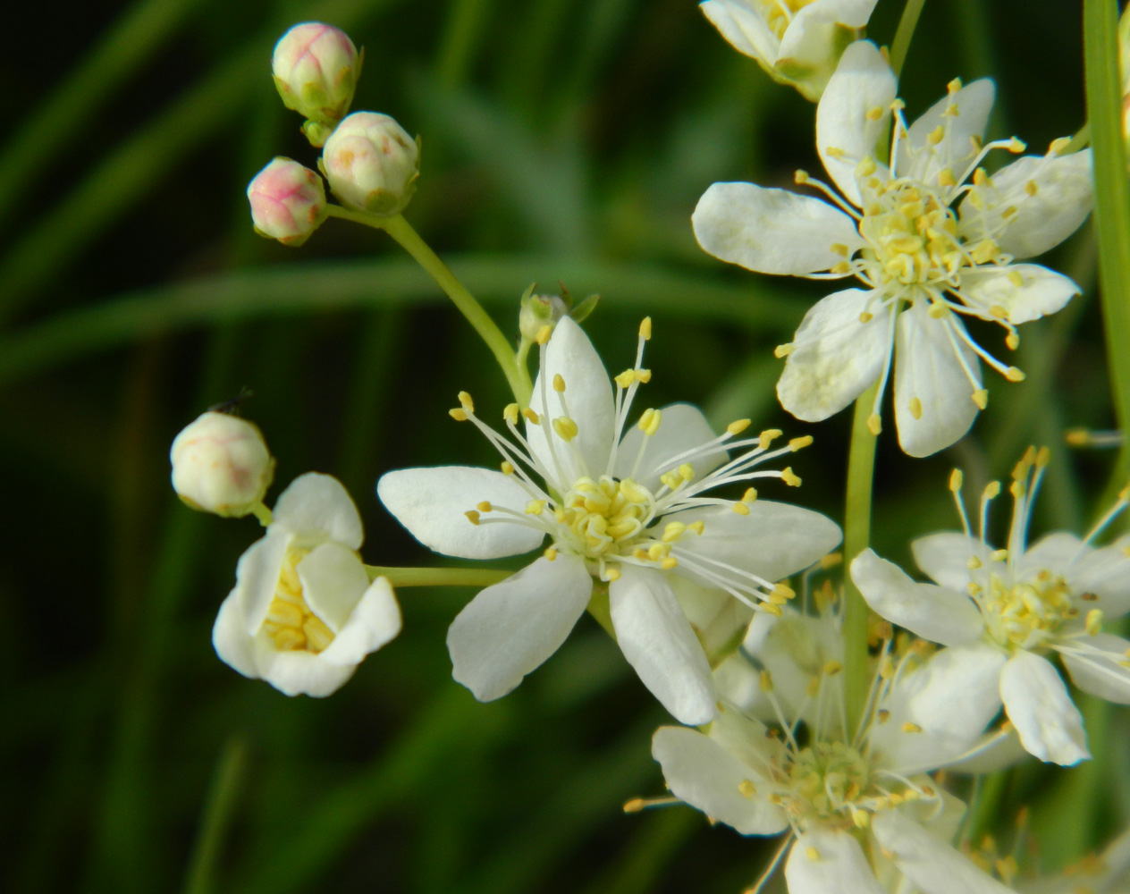
[[[1079,289],[1044,267],[1014,263],[1070,235],[1090,210],[1089,150],[1025,156],[989,176],[981,146],[993,86],[955,80],[948,95],[906,128],[895,77],[873,44],[844,52],[816,113],[817,149],[844,198],[798,172],[831,202],[751,183],[715,183],[693,222],[699,245],[764,274],[837,279],[866,288],[835,292],[806,314],[777,382],[782,406],[818,422],[877,380],[871,429],[895,359],[895,419],[903,450],[935,453],[959,439],[983,409],[981,361],[1010,381],[1023,373],[973,341],[960,316],[1016,326],[1060,310]],[[875,146],[896,112],[888,167]],[[897,355],[897,357],[895,356]]]

